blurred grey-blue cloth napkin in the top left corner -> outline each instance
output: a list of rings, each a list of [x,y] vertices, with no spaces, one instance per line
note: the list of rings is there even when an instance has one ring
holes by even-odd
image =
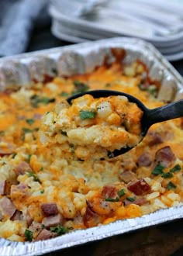
[[[0,0],[0,56],[21,54],[48,0]]]

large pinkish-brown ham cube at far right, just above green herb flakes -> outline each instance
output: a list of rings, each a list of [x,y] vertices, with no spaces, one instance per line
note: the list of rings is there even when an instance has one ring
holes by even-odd
[[[155,154],[155,163],[161,164],[164,167],[168,167],[171,163],[174,163],[176,157],[171,150],[171,147],[166,146],[162,147],[161,149],[157,150]]]

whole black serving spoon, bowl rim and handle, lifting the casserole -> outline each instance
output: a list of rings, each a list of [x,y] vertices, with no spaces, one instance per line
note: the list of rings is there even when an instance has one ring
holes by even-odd
[[[78,97],[81,97],[82,95],[92,95],[95,99],[101,98],[101,97],[109,97],[112,95],[122,95],[126,96],[126,98],[129,100],[129,102],[134,102],[136,105],[142,109],[143,111],[143,118],[141,119],[141,140],[143,140],[143,137],[146,135],[147,130],[152,126],[154,123],[161,123],[163,121],[167,121],[169,119],[174,119],[183,116],[183,99],[172,102],[170,104],[167,104],[165,106],[162,106],[160,108],[156,109],[147,109],[146,106],[143,105],[142,102],[140,102],[139,99],[136,99],[132,95],[129,95],[124,92],[117,92],[117,91],[110,91],[110,90],[95,90],[95,91],[88,91],[88,92],[81,92],[76,95],[71,96],[67,99],[67,102],[69,104],[72,104],[73,99],[77,99]],[[140,141],[141,141],[140,140]],[[140,143],[139,141],[139,143]],[[134,145],[133,147],[135,147]],[[131,150],[133,147],[122,147],[120,150],[114,150],[109,151],[108,157],[117,157],[120,154],[124,154],[127,151]]]

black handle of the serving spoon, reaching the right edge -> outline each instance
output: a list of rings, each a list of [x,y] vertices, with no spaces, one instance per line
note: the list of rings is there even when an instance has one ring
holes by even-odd
[[[183,116],[183,99],[160,108],[149,109],[146,117],[147,125],[150,127],[154,123],[160,123],[181,116]]]

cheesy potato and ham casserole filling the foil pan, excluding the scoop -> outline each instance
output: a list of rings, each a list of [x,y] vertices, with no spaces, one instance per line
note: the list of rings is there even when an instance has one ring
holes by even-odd
[[[160,87],[136,60],[0,92],[0,236],[46,240],[181,205],[182,119],[155,124],[137,147],[111,161],[74,159],[73,144],[64,144],[65,157],[59,140],[45,146],[39,137],[42,116],[47,112],[50,126],[55,106],[74,93],[116,90],[155,108],[164,105]]]

